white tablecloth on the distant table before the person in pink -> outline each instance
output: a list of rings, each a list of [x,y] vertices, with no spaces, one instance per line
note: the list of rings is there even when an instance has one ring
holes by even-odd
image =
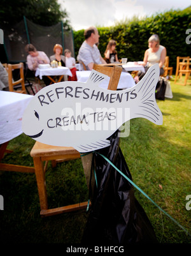
[[[37,68],[36,73],[35,73],[36,77],[42,79],[43,75],[69,75],[70,77],[72,77],[72,73],[69,70],[69,68],[67,68],[66,66],[59,66],[58,68],[46,68],[46,69],[39,69]]]

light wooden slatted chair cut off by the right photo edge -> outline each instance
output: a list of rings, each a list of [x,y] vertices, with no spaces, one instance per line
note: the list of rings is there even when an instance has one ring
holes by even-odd
[[[176,57],[176,76],[174,80],[175,84],[180,84],[182,86],[187,85],[187,80],[191,73],[190,64],[191,64],[191,59],[189,56]],[[183,75],[185,75],[185,80],[184,82],[181,82]],[[179,80],[179,82],[177,82],[177,80]]]

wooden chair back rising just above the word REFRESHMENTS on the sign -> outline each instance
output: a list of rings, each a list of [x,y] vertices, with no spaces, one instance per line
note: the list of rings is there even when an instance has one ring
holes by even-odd
[[[93,70],[108,75],[110,77],[110,82],[108,84],[108,89],[116,91],[118,86],[118,81],[122,73],[121,66],[102,66],[99,64],[94,64]]]

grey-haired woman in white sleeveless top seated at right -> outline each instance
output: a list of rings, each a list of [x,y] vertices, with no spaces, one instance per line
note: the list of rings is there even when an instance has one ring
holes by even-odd
[[[153,64],[159,63],[160,75],[164,73],[164,61],[166,57],[166,48],[160,45],[159,36],[157,34],[153,34],[148,39],[148,49],[145,51],[145,56],[143,59],[143,63],[141,65],[145,67],[145,73],[148,68]],[[139,75],[139,80],[143,78],[145,74],[142,73]]]

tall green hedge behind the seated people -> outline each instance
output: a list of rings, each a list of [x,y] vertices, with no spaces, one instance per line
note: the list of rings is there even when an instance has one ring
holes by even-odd
[[[164,13],[145,17],[139,20],[132,19],[111,27],[97,27],[99,50],[104,55],[106,45],[110,39],[117,41],[118,58],[128,57],[128,61],[142,61],[145,50],[148,49],[148,38],[158,34],[160,44],[167,49],[169,66],[176,71],[176,56],[190,56],[191,45],[186,43],[187,29],[191,29],[191,6],[185,10],[170,10]],[[84,29],[73,31],[75,55],[84,41]],[[190,41],[191,42],[191,41]]]

